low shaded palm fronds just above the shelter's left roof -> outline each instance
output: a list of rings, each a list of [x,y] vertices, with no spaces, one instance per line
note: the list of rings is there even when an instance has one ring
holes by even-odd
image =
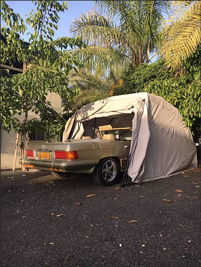
[[[104,76],[101,70],[91,72],[89,68],[81,68],[78,72],[71,70],[68,75],[69,87],[77,95],[70,100],[62,100],[62,112],[75,112],[83,105],[95,102],[111,95],[113,89],[121,85],[122,80],[118,77],[123,68],[117,68],[115,71],[110,71],[107,76]]]

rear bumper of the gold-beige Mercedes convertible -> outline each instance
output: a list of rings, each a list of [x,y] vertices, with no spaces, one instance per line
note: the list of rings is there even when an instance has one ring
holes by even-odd
[[[39,159],[19,159],[20,164],[24,164],[28,168],[34,168],[44,171],[70,172],[70,173],[89,173],[94,171],[94,168],[99,163],[99,160],[78,161],[78,162],[58,162],[52,160]]]

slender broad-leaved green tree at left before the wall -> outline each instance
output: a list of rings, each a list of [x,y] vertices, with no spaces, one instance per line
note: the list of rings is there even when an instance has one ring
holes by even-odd
[[[21,152],[24,157],[24,136],[28,129],[45,131],[45,138],[60,136],[63,118],[46,101],[48,92],[55,92],[62,98],[72,98],[76,90],[68,86],[68,73],[80,66],[80,61],[70,51],[68,45],[84,47],[78,38],[62,37],[53,40],[58,29],[59,13],[68,5],[57,1],[32,1],[36,12],[27,15],[26,24],[34,30],[29,34],[29,45],[20,38],[27,27],[19,14],[1,1],[1,18],[6,26],[1,28],[7,44],[1,40],[1,63],[13,66],[15,61],[23,62],[22,74],[10,75],[2,72],[1,78],[1,125],[9,132],[21,135]],[[28,119],[28,112],[39,115],[38,119]],[[23,122],[19,120],[23,115]]]

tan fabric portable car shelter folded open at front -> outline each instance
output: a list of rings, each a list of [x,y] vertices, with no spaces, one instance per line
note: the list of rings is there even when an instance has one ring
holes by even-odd
[[[118,95],[88,104],[67,121],[66,139],[99,136],[98,126],[132,127],[128,175],[141,183],[197,167],[196,146],[178,109],[146,92]]]

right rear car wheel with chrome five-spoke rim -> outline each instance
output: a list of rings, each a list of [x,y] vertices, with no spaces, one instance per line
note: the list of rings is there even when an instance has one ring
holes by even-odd
[[[94,169],[92,180],[96,185],[111,186],[118,182],[119,173],[120,164],[117,159],[102,159]]]

